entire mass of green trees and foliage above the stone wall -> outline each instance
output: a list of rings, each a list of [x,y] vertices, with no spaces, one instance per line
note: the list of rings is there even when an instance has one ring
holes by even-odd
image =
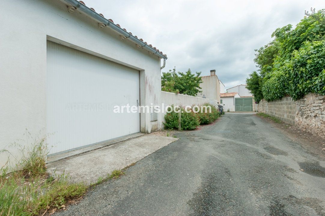
[[[311,9],[305,15],[294,29],[290,24],[276,29],[274,40],[255,50],[260,74],[250,74],[247,88],[256,99],[325,95],[325,10]]]

